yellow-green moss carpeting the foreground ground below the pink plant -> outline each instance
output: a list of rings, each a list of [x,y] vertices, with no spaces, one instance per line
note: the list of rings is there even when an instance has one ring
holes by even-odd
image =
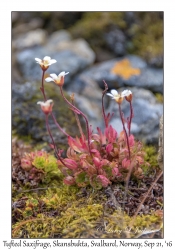
[[[53,183],[52,183],[53,186]],[[84,196],[75,186],[66,186],[61,181],[55,187],[33,193],[20,193],[13,197],[19,201],[25,197],[25,206],[15,209],[18,213],[13,224],[13,237],[20,238],[121,238],[126,237],[126,228],[133,217],[120,209],[106,208],[106,196],[101,191],[86,190]],[[134,220],[130,237],[139,232],[159,229],[160,216],[151,213],[138,215]]]

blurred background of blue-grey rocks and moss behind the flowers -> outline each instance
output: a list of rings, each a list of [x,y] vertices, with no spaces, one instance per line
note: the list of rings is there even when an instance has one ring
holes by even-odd
[[[75,93],[76,105],[96,132],[104,128],[101,112],[103,80],[111,89],[133,92],[131,132],[146,144],[157,145],[163,114],[163,12],[12,12],[12,133],[47,148],[44,115],[37,101],[41,69],[34,58],[57,60],[47,71],[65,77],[64,90]],[[78,133],[74,114],[62,101],[59,88],[46,83],[53,112],[72,136]],[[105,97],[106,112],[114,112],[112,126],[122,130],[117,105]],[[125,118],[128,103],[122,103]],[[50,121],[56,142],[65,136]],[[84,127],[84,121],[82,121]],[[38,146],[39,147],[39,146]]]

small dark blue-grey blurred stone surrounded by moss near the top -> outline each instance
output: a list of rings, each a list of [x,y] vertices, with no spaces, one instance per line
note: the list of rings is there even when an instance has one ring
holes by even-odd
[[[119,29],[115,29],[115,30],[111,30],[108,33],[105,34],[104,37],[107,45],[109,46],[109,48],[114,51],[116,56],[123,56],[126,53],[126,37],[124,35],[124,33],[119,30]]]

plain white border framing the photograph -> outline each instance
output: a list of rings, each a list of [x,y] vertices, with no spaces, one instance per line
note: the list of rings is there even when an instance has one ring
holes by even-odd
[[[0,15],[0,245],[11,237],[11,11],[164,11],[165,235],[174,240],[175,14],[174,1],[6,1]],[[165,241],[163,240],[163,241]],[[154,240],[153,240],[154,241]],[[159,240],[160,241],[160,240]],[[174,242],[175,244],[175,242]],[[64,248],[66,249],[66,248]],[[166,248],[165,248],[166,249]]]

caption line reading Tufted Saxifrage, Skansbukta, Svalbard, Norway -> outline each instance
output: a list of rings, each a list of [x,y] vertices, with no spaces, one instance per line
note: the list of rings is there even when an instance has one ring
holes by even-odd
[[[11,240],[11,241],[2,241],[3,249],[17,249],[17,248],[31,248],[31,249],[48,249],[48,248],[102,248],[102,247],[111,247],[123,249],[125,247],[141,249],[158,249],[158,248],[171,248],[173,246],[173,241],[160,240],[160,241],[151,241],[151,240],[138,240],[138,241],[128,241],[128,240],[52,240],[52,241],[43,241],[43,240]]]

